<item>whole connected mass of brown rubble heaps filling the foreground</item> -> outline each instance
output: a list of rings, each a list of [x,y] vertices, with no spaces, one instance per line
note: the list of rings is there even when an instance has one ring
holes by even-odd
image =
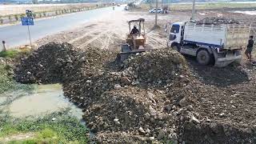
[[[210,83],[220,69],[197,75],[174,50],[135,54],[121,67],[114,65],[115,56],[114,51],[50,43],[23,58],[15,78],[62,82],[65,96],[84,110],[99,143],[255,142],[256,98],[250,91],[255,82],[246,87]],[[232,77],[244,74],[238,70]]]

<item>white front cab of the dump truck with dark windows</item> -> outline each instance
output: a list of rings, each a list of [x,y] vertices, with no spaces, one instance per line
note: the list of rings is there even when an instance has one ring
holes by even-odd
[[[180,50],[180,46],[182,44],[182,34],[184,30],[186,22],[175,22],[172,24],[170,31],[169,31],[169,37],[168,37],[168,47],[172,47],[175,50]]]

